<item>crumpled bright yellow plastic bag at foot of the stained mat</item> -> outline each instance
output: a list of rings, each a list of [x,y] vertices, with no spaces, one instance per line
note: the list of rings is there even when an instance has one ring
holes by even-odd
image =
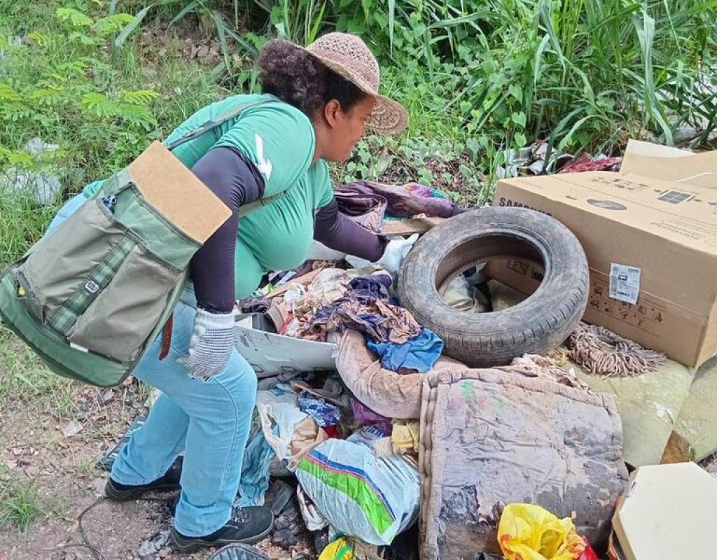
[[[498,544],[506,560],[576,560],[585,549],[570,518],[559,519],[530,503],[505,506]]]

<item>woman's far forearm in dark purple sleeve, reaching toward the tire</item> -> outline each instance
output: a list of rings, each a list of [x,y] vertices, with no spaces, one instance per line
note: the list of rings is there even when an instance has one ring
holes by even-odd
[[[381,258],[388,239],[364,229],[338,211],[336,199],[319,209],[314,224],[314,239],[329,249],[354,255],[369,262]]]

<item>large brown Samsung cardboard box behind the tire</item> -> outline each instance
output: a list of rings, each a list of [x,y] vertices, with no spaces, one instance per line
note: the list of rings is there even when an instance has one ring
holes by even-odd
[[[646,156],[644,144],[627,153],[627,168],[650,174],[654,161],[672,162],[660,166],[672,180],[622,171],[504,179],[493,204],[545,212],[574,232],[590,266],[586,321],[698,366],[717,353],[717,174],[708,181],[704,163],[717,171],[717,153]],[[507,259],[487,272],[530,293],[541,265]]]

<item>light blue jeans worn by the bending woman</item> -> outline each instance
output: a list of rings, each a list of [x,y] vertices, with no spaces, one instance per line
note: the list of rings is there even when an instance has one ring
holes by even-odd
[[[81,205],[82,200],[67,201],[50,227]],[[187,295],[183,299],[191,300],[194,294]],[[174,526],[185,536],[213,533],[229,521],[257,391],[256,374],[236,349],[224,371],[209,381],[190,378],[189,370],[177,364],[187,354],[195,313],[180,302],[174,309],[166,358],[159,360],[158,336],[133,371],[162,394],[144,426],[123,447],[111,473],[120,484],[146,484],[160,478],[184,450]]]

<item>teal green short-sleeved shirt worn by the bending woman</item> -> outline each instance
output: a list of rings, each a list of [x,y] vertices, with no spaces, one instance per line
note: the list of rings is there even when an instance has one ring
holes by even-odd
[[[239,105],[276,100],[272,95],[234,95],[191,115],[166,139],[169,144]],[[210,149],[228,146],[255,164],[265,181],[264,196],[288,193],[239,219],[234,284],[237,298],[250,295],[269,270],[288,270],[306,260],[313,217],[331,202],[333,189],[325,161],[312,163],[316,137],[309,118],[286,103],[247,108],[199,138],[178,146],[174,155],[191,168]],[[90,198],[101,181],[85,187]]]

